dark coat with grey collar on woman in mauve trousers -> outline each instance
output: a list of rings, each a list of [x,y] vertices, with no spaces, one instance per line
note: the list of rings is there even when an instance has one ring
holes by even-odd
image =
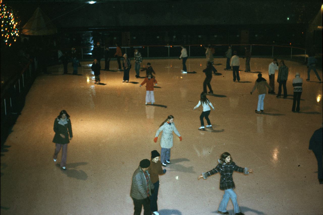
[[[54,121],[54,132],[55,136],[53,138],[53,143],[68,144],[69,137],[73,137],[71,120],[66,118],[66,120],[63,122],[62,120],[56,118]],[[61,137],[60,134],[64,135],[65,138]]]

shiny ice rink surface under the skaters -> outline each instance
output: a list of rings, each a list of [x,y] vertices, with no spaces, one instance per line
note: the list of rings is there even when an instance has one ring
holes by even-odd
[[[197,129],[202,106],[193,110],[203,91],[205,59],[189,58],[188,72],[196,73],[187,74],[180,72],[178,59],[144,59],[141,67],[150,62],[158,81],[153,106],[145,105],[146,89],[139,87],[143,79],[135,78],[134,65],[130,83],[122,83],[123,72],[111,61],[114,71],[101,70],[101,85],[94,84],[92,61],[81,62],[78,76],[62,75],[62,65],[48,67],[50,74],[36,78],[5,143],[11,147],[1,156],[1,215],[133,214],[132,174],[142,159],[150,159],[152,150],[160,152],[160,136],[157,143],[153,139],[168,115],[174,116],[183,140],[174,134],[171,164],[160,176],[161,215],[216,214],[224,194],[220,174],[207,180],[197,177],[213,169],[223,152],[238,166],[254,170],[233,174],[234,191],[246,215],[323,214],[323,185],[316,158],[308,150],[310,137],[322,123],[322,83],[313,71],[311,81],[305,81],[306,65],[285,61],[288,97],[267,94],[265,114],[256,114],[257,90],[253,95],[250,91],[259,72],[269,82],[272,59],[251,58],[251,72],[244,72],[241,58],[240,82],[233,82],[232,71],[223,70],[225,61],[214,61],[218,73],[211,81],[215,95],[207,96],[215,107],[209,131]],[[72,70],[69,64],[69,73]],[[291,111],[296,72],[304,81],[299,113]],[[322,71],[318,73],[322,78]],[[54,119],[63,109],[73,128],[66,171],[59,168],[61,152],[53,161],[52,143]],[[231,201],[227,210],[233,214]]]

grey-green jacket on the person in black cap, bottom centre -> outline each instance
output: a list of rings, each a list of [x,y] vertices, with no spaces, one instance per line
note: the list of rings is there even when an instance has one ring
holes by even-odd
[[[151,195],[151,190],[154,190],[155,187],[151,183],[149,172],[146,171],[146,173],[148,174],[148,177],[149,177],[148,189],[149,189],[149,195]],[[130,196],[137,200],[146,199],[148,197],[146,177],[140,166],[132,175]]]

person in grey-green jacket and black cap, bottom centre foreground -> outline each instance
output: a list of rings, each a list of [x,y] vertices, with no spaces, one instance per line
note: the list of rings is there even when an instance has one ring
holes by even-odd
[[[138,169],[132,175],[132,183],[130,196],[134,204],[134,215],[141,214],[141,208],[143,206],[143,214],[151,215],[150,210],[150,198],[154,192],[154,185],[151,183],[148,173],[148,167],[150,166],[150,160],[143,159],[140,162]]]

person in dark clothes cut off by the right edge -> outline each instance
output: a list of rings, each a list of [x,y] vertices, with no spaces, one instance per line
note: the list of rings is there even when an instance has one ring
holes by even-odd
[[[323,154],[323,123],[321,128],[314,131],[311,139],[309,140],[308,149],[312,150],[318,161],[318,181],[323,184],[323,166],[322,166],[322,154]]]

